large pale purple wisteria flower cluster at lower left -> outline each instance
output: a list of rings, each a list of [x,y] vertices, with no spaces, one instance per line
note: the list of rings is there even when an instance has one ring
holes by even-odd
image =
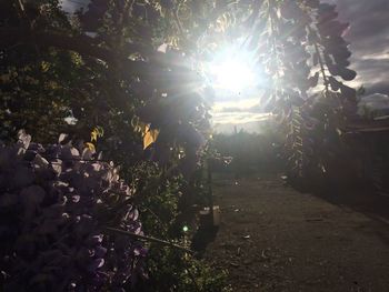
[[[142,271],[131,189],[111,162],[71,143],[44,147],[19,132],[0,142],[0,290],[119,291]]]

